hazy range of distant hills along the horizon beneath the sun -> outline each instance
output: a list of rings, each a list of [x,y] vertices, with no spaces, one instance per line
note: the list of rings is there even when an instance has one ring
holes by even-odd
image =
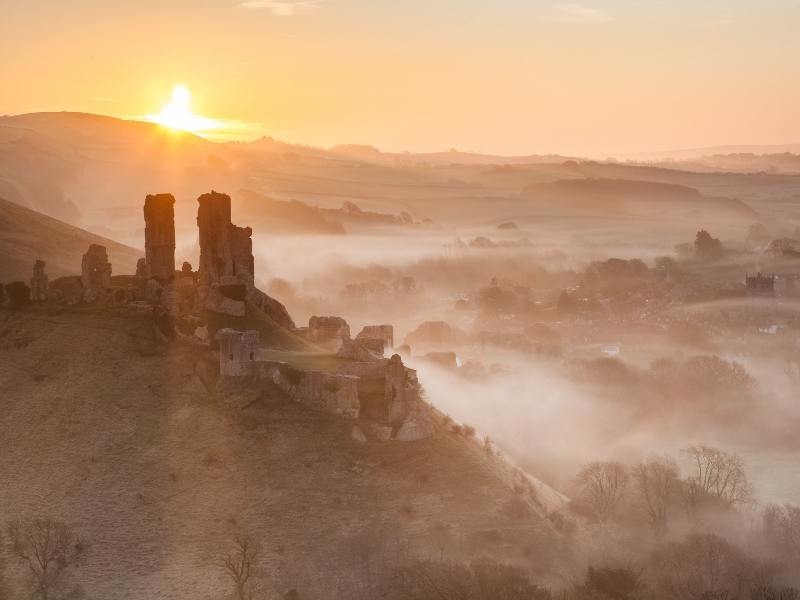
[[[535,196],[535,187],[528,186],[554,184],[556,195],[565,194],[557,182],[567,179],[685,186],[699,191],[700,197],[677,188],[667,195],[656,188],[647,193],[668,201],[672,218],[721,217],[742,225],[755,217],[748,206],[763,220],[765,214],[783,213],[796,202],[800,177],[781,175],[797,168],[794,157],[787,156],[654,166],[558,155],[383,152],[358,144],[325,149],[268,137],[217,143],[152,123],[82,113],[33,113],[0,117],[0,197],[133,247],[143,244],[141,203],[147,194],[175,196],[176,233],[188,248],[196,239],[196,198],[210,189],[232,194],[234,212],[237,206],[246,208],[248,215],[241,222],[275,234],[367,231],[384,228],[394,217],[403,222],[403,213],[415,222],[430,219],[441,227],[495,220],[498,211],[525,216],[530,210],[540,213],[539,204],[552,208],[546,198],[520,203],[522,190]],[[253,196],[237,203],[241,190]],[[606,192],[591,193],[606,194],[605,199],[585,199],[594,202],[594,208],[613,204]],[[670,216],[647,198],[621,193],[626,197],[621,214]],[[567,204],[583,202],[569,194]],[[259,204],[254,198],[269,200]],[[362,212],[341,210],[350,205]],[[563,212],[558,205],[554,208]]]

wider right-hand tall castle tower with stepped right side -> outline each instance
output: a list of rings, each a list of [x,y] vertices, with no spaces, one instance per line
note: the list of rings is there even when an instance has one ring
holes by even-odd
[[[231,198],[212,191],[197,199],[200,232],[200,283],[231,284],[235,280],[253,286],[253,230],[231,223]]]

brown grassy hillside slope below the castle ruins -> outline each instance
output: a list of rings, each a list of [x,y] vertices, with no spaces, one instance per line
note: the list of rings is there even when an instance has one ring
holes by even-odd
[[[215,364],[120,309],[0,312],[0,515],[70,524],[86,598],[225,597],[235,533],[263,547],[260,597],[366,598],[400,550],[552,566],[544,510],[478,442],[361,445],[269,394],[230,408]]]

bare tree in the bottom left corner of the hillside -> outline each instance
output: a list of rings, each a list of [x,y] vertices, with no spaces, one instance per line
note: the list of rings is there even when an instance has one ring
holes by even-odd
[[[59,588],[64,573],[84,549],[69,527],[53,519],[12,521],[8,538],[12,553],[27,565],[42,600]]]

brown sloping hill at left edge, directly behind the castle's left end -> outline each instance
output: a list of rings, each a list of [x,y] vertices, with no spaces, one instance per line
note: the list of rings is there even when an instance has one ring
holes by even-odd
[[[133,274],[143,254],[113,240],[0,199],[0,282],[27,281],[36,259],[47,263],[51,279],[78,275],[89,244],[108,250],[115,274]]]

